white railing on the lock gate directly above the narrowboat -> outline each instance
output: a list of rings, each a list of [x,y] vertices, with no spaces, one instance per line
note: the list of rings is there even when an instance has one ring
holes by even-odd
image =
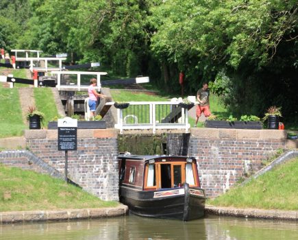
[[[113,102],[106,105],[113,105]],[[132,101],[125,109],[117,108],[116,129],[123,133],[123,130],[151,129],[153,134],[158,129],[181,129],[187,133],[190,129],[188,123],[188,110],[178,108],[178,101]],[[178,108],[175,110],[175,108]],[[173,115],[169,118],[170,112],[181,112],[180,115]],[[179,117],[178,117],[179,116]],[[168,117],[168,118],[167,118]],[[166,119],[168,119],[167,122]],[[171,122],[169,122],[171,119]]]

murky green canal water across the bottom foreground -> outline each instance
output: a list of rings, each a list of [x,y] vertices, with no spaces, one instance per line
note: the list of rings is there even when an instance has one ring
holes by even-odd
[[[0,239],[298,239],[296,221],[208,216],[195,221],[149,219],[129,215],[84,221],[0,225]]]

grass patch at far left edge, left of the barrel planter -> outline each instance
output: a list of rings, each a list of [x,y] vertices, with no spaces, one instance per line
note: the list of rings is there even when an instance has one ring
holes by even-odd
[[[18,89],[0,88],[0,137],[21,136],[23,123]]]

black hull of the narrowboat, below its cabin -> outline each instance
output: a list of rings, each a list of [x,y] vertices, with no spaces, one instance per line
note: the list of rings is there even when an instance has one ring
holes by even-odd
[[[142,217],[189,221],[203,217],[206,197],[203,189],[184,184],[182,188],[164,191],[141,191],[120,187],[120,202]]]

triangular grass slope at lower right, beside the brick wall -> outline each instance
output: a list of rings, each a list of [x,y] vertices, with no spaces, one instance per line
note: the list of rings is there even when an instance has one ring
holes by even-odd
[[[275,167],[256,180],[208,200],[214,206],[298,210],[298,158]]]

